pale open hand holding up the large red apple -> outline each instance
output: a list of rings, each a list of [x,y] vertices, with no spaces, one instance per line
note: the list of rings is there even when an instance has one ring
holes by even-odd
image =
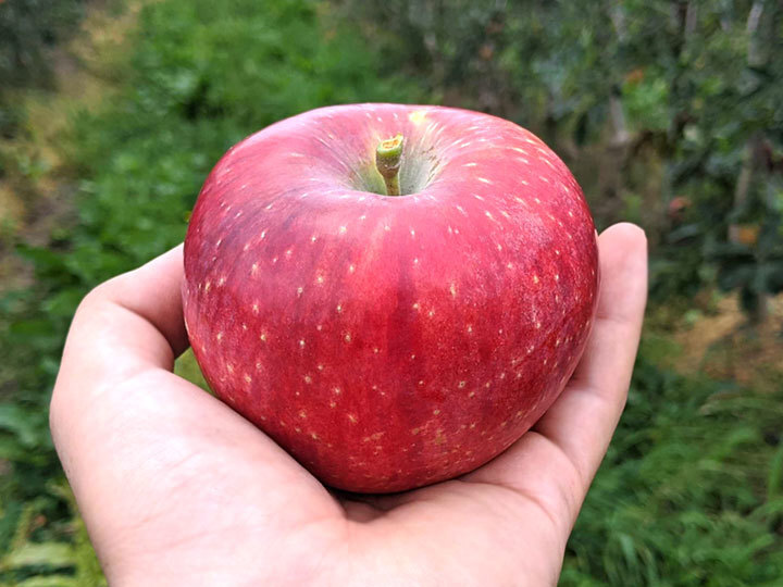
[[[182,247],[79,305],[52,435],[109,584],[555,585],[625,404],[647,292],[644,233],[599,237],[601,289],[568,387],[481,469],[403,494],[330,491],[172,373],[188,346]]]

